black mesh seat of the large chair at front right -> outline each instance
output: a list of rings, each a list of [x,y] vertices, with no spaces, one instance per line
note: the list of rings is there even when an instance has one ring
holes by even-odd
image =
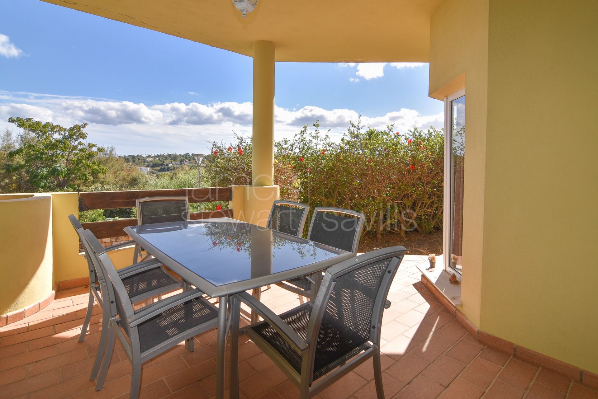
[[[279,317],[305,340],[307,339],[307,329],[312,309],[312,303],[308,302],[279,315]],[[297,373],[301,374],[301,355],[270,324],[263,321],[251,329],[269,343],[272,348],[276,349]],[[324,315],[318,334],[313,379],[316,380],[324,376],[341,364],[346,363],[353,356],[370,348],[367,341],[367,339],[353,333],[347,326],[343,326],[339,320]]]

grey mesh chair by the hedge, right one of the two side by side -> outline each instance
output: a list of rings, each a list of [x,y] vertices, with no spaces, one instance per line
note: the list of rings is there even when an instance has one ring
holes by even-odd
[[[352,210],[334,207],[315,207],[309,225],[307,240],[329,245],[357,254],[359,238],[364,229],[365,215]],[[298,277],[278,285],[302,297],[314,299],[321,273]],[[292,285],[291,285],[292,284]]]

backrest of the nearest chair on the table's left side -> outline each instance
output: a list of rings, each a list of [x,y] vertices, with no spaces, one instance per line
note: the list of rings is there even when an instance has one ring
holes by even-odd
[[[103,281],[105,281],[105,290],[102,291],[103,303],[110,304],[111,315],[118,314],[121,325],[127,334],[129,334],[129,320],[135,315],[135,312],[133,311],[133,304],[129,299],[129,294],[127,294],[123,281],[118,275],[112,260],[106,253],[105,248],[97,241],[96,236],[89,230],[84,230],[83,236],[90,247],[93,261],[96,262],[97,268],[101,270]]]

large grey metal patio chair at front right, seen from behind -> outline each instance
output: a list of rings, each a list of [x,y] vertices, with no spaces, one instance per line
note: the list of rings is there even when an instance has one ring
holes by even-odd
[[[315,301],[276,315],[248,293],[233,297],[231,390],[238,392],[239,314],[241,302],[264,321],[245,334],[295,383],[307,399],[374,358],[378,399],[384,399],[380,366],[380,330],[386,296],[404,247],[371,251],[328,268]],[[231,397],[233,397],[231,395]]]

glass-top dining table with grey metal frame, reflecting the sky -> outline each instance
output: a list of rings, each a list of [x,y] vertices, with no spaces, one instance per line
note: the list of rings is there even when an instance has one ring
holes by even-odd
[[[353,253],[293,235],[221,217],[130,226],[124,231],[144,250],[206,295],[219,298],[216,398],[224,398],[225,346],[231,323],[228,297],[305,275]],[[231,353],[231,359],[236,354]],[[238,392],[231,392],[231,398]]]

